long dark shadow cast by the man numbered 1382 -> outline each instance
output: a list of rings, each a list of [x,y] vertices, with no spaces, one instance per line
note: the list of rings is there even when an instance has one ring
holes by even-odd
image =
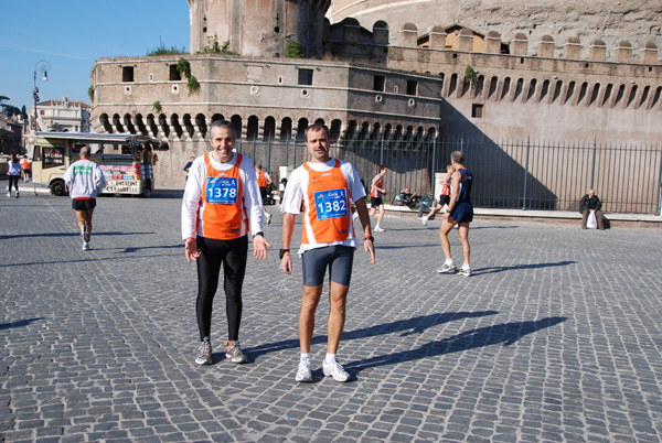
[[[365,360],[348,363],[344,365],[346,370],[354,372],[354,376],[363,369],[377,366],[395,365],[398,363],[417,360],[420,358],[436,357],[450,353],[458,353],[478,347],[496,345],[502,343],[509,346],[527,334],[541,331],[545,327],[554,326],[565,322],[567,317],[547,317],[530,322],[513,322],[500,325],[480,327],[463,332],[452,337],[437,342],[427,343],[416,349],[403,350],[394,354],[386,354],[378,357],[372,357]]]

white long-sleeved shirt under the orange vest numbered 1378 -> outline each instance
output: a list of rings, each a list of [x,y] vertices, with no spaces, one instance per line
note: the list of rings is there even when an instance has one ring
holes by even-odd
[[[242,155],[242,164],[239,165],[239,177],[242,179],[242,204],[248,214],[250,231],[255,235],[263,230],[263,204],[257,186],[257,175],[253,161]],[[212,166],[217,171],[227,171],[232,169],[236,161],[237,154],[234,153],[232,160],[227,163],[218,163],[210,155]],[[200,223],[202,223],[199,208],[202,203],[202,193],[204,192],[206,182],[206,164],[204,155],[199,156],[193,161],[189,170],[189,180],[184,190],[184,198],[182,199],[182,240],[186,238],[195,238]]]

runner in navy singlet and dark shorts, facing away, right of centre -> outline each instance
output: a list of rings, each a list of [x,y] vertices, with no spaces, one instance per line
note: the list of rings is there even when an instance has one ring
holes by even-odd
[[[450,162],[455,168],[450,184],[452,192],[450,194],[448,212],[444,214],[444,223],[441,224],[441,228],[439,228],[439,240],[441,241],[446,261],[437,269],[437,272],[455,273],[457,269],[450,255],[450,241],[448,241],[448,233],[457,224],[460,244],[462,245],[462,255],[465,256],[465,263],[458,274],[469,277],[471,275],[471,266],[469,263],[471,252],[471,248],[469,247],[469,223],[473,220],[473,206],[471,205],[473,176],[471,175],[471,171],[465,168],[465,154],[462,152],[452,152],[450,154]]]

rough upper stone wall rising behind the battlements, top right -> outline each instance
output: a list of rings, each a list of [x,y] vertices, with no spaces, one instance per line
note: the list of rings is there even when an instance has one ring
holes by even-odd
[[[585,43],[600,39],[610,48],[626,39],[634,52],[649,42],[662,47],[661,17],[662,3],[658,0],[333,0],[327,11],[333,24],[353,18],[366,29],[385,21],[392,30],[415,23],[424,33],[437,25],[455,24],[483,34],[495,31],[506,37],[522,32],[531,42],[551,35],[557,51],[570,37]],[[389,43],[399,44],[399,35],[392,34]],[[528,55],[533,55],[535,47],[530,50]]]

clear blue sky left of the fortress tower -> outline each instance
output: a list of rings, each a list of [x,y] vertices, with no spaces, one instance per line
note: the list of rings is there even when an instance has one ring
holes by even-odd
[[[0,96],[33,106],[34,65],[40,101],[89,102],[89,73],[98,58],[142,56],[160,45],[189,50],[186,0],[0,0]]]

